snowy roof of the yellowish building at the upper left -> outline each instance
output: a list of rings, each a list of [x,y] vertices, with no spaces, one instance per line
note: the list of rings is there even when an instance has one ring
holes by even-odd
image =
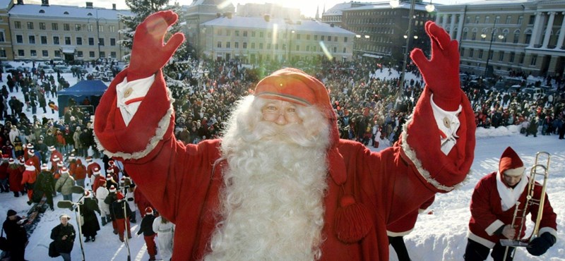
[[[0,0],[3,1],[3,0]],[[40,16],[45,18],[105,18],[117,20],[118,14],[131,15],[129,10],[114,10],[105,8],[85,8],[78,6],[42,6],[39,4],[16,4],[8,11],[10,16]],[[90,13],[90,15],[89,15]]]

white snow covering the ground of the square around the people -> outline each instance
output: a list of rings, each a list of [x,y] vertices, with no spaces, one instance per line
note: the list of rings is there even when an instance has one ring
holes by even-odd
[[[12,64],[13,66],[21,65],[21,63]],[[6,74],[3,76],[5,82]],[[388,72],[381,77],[383,76],[388,76]],[[76,83],[76,78],[72,78],[70,73],[64,74],[64,77],[69,80],[71,86]],[[408,79],[411,77],[413,75],[407,76]],[[21,98],[21,96],[21,93],[16,94],[16,97]],[[41,109],[38,109],[38,112],[40,111],[42,112]],[[42,114],[39,114],[38,118],[41,117]],[[57,118],[58,116],[51,114],[51,111],[48,110],[47,117]],[[558,224],[557,243],[545,255],[533,257],[524,248],[519,248],[514,260],[565,260],[565,233],[563,231],[565,225],[565,140],[558,140],[557,135],[538,135],[537,138],[525,137],[520,135],[518,130],[513,127],[488,130],[480,128],[477,130],[477,146],[475,162],[472,164],[472,174],[468,176],[467,181],[458,190],[437,195],[436,201],[429,207],[429,210],[433,210],[433,214],[421,214],[414,231],[405,236],[412,260],[463,260],[462,256],[467,243],[466,233],[470,218],[469,204],[472,190],[482,176],[498,168],[500,154],[508,146],[513,147],[518,152],[528,169],[534,162],[536,152],[545,151],[552,155],[547,194],[554,211],[557,212]],[[382,149],[382,146],[379,149]],[[101,161],[100,164],[102,164]],[[61,195],[54,199],[55,202],[59,200],[62,200]],[[25,214],[29,209],[26,201],[27,197],[14,198],[12,193],[0,194],[0,221],[6,218],[6,211],[9,209],[16,210],[18,214]],[[69,214],[73,218],[71,222],[76,227],[75,214],[71,211],[61,210],[57,207],[54,212],[47,210],[30,236],[30,243],[25,251],[27,260],[51,259],[47,256],[47,245],[51,242],[49,234],[51,229],[59,224],[59,214],[62,213]],[[138,214],[138,223],[131,226],[133,235],[130,241],[131,260],[148,260],[143,236],[138,237],[135,234],[140,223],[141,218]],[[183,246],[175,245],[175,247],[182,248]],[[84,243],[84,249],[85,260],[126,260],[128,255],[126,245],[121,243],[118,237],[112,233],[112,226],[109,224],[98,231],[95,242]],[[394,250],[390,249],[391,260],[396,260]],[[73,260],[82,260],[81,246],[78,240],[71,257]],[[157,257],[159,256],[157,255]],[[59,258],[57,257],[57,260]]]

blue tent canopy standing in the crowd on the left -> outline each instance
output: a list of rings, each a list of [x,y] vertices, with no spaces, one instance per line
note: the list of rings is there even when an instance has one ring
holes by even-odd
[[[108,86],[102,80],[81,80],[76,85],[60,90],[57,92],[59,116],[63,116],[73,104],[83,107],[83,111],[90,111],[90,114],[94,114],[100,97],[107,88]],[[89,105],[83,105],[86,99]]]

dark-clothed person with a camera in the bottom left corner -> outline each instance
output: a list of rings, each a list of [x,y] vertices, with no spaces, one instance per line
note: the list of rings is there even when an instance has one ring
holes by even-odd
[[[24,261],[25,246],[28,245],[28,233],[25,232],[23,224],[26,219],[20,217],[15,210],[8,210],[6,213],[6,221],[2,225],[2,229],[6,233],[8,241],[8,251],[10,252],[11,261]]]

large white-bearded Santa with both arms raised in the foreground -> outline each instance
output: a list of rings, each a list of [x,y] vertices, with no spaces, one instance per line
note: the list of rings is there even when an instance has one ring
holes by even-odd
[[[94,128],[100,150],[176,224],[172,260],[388,260],[386,225],[467,176],[472,109],[458,44],[435,23],[432,59],[411,54],[427,83],[414,114],[396,145],[371,152],[339,139],[326,87],[294,68],[240,99],[221,140],[177,142],[161,70],[184,41],[163,43],[177,18],[162,11],[138,25]]]

